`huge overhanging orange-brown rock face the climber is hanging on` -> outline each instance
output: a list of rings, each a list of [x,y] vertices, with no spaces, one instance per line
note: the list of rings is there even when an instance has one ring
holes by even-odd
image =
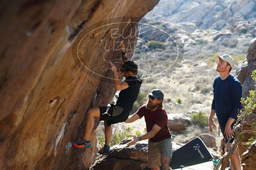
[[[138,17],[126,18],[128,23],[119,25],[134,33],[137,25],[131,22],[137,22],[158,2],[1,1],[0,169],[90,166],[93,159],[82,159],[93,158],[92,153],[97,152],[95,135],[89,149],[73,148],[71,142],[83,135],[86,111],[106,105],[115,92],[112,80],[103,83],[76,66],[74,39],[88,26],[108,18],[118,22],[117,17]],[[100,58],[104,52],[101,42],[111,41],[110,29],[85,47],[85,62],[95,69],[107,65]],[[111,52],[108,58],[119,58],[116,54]],[[103,75],[112,73],[108,70]]]

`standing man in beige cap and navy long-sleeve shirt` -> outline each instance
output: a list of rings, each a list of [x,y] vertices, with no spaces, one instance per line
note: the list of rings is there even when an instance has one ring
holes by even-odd
[[[228,148],[231,147],[234,141],[234,133],[231,134],[233,125],[237,121],[237,115],[241,106],[242,86],[237,78],[230,74],[231,69],[234,67],[234,60],[229,54],[216,55],[219,61],[217,63],[216,71],[220,73],[213,82],[213,102],[212,109],[209,116],[209,129],[212,132],[213,116],[217,115],[221,132],[225,138],[226,144],[228,143],[229,136],[231,140]],[[230,158],[230,170],[241,170],[241,161],[237,150]]]

